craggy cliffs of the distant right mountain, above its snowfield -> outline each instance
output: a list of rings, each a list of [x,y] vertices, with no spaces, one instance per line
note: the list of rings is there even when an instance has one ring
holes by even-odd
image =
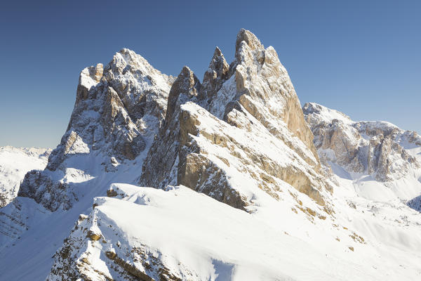
[[[403,148],[421,145],[421,137],[414,131],[403,131],[388,122],[353,122],[342,112],[316,103],[306,103],[302,110],[326,164],[333,162],[382,182],[402,178],[411,168],[420,167]]]

